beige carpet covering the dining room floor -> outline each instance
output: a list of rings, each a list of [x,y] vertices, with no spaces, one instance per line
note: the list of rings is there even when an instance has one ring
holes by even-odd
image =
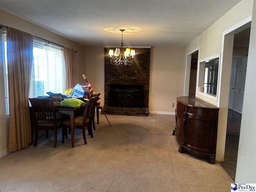
[[[76,130],[57,147],[49,134],[0,159],[0,192],[230,192],[233,181],[222,166],[178,152],[174,116],[100,115],[94,138],[83,144]]]

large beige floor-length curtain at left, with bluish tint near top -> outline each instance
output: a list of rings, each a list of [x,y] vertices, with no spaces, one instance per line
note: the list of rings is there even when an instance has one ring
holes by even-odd
[[[9,151],[31,143],[28,94],[33,62],[33,36],[8,28],[7,64],[9,84]]]

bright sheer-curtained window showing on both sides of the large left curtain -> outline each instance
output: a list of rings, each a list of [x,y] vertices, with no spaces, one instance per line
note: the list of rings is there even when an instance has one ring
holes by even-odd
[[[4,52],[2,68],[4,68],[4,88],[6,115],[9,114],[8,68],[6,30],[1,30],[1,52]],[[3,55],[3,54],[1,54]],[[63,48],[34,39],[33,64],[30,78],[29,97],[48,96],[46,92],[64,94],[66,86],[66,68]]]

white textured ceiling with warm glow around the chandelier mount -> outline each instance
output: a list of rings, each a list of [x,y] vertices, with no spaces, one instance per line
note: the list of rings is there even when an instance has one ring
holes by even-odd
[[[109,31],[129,27],[125,46],[186,46],[239,1],[0,0],[0,9],[86,46],[118,45],[121,32]]]

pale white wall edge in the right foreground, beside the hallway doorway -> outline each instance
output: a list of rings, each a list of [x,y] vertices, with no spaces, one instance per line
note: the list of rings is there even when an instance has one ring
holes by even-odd
[[[256,2],[253,5],[236,183],[256,183]]]

